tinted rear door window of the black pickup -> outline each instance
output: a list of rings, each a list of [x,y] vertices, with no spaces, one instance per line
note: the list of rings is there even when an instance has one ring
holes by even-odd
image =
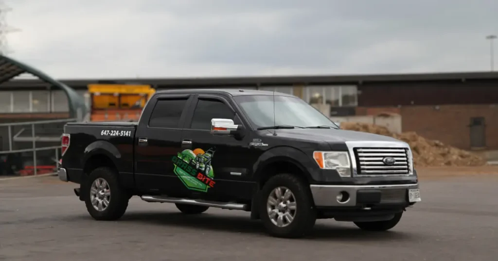
[[[158,100],[150,115],[149,126],[180,128],[180,116],[182,115],[186,103],[187,98]]]

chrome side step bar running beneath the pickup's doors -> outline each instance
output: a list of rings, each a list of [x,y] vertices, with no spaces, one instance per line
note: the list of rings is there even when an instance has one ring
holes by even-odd
[[[148,195],[143,195],[140,198],[143,201],[147,201],[147,202],[180,203],[180,204],[217,207],[217,208],[232,209],[232,210],[248,210],[249,209],[247,204],[208,201],[208,200],[202,200],[202,199],[177,198],[177,197],[167,197],[167,196],[148,196]]]

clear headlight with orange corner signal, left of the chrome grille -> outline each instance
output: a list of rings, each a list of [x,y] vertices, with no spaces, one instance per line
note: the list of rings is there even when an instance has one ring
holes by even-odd
[[[336,170],[341,176],[351,176],[351,163],[346,151],[315,151],[313,158],[322,170]]]

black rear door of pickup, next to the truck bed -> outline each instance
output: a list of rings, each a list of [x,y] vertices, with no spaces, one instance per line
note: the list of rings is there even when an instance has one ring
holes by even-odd
[[[181,128],[191,94],[160,94],[151,100],[135,135],[135,182],[141,191],[184,196],[172,159],[181,153]]]

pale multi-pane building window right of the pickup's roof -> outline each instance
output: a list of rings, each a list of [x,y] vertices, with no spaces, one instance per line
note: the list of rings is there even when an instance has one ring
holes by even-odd
[[[357,106],[356,86],[309,86],[304,100],[310,104],[330,104],[331,107]]]

